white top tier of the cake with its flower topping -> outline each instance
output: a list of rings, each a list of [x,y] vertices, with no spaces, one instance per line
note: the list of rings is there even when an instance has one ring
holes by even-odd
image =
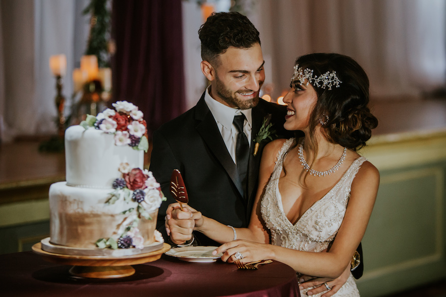
[[[127,101],[112,104],[97,116],[87,115],[80,125],[65,131],[66,181],[68,185],[111,188],[120,177],[118,168],[143,169],[147,151],[147,125],[138,107]]]

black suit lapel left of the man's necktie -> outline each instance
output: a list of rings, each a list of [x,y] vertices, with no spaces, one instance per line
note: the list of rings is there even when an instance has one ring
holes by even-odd
[[[227,151],[214,116],[206,105],[204,94],[196,105],[195,118],[199,121],[198,125],[196,126],[198,133],[201,135],[204,142],[217,160],[222,164],[224,170],[227,172],[230,179],[236,186],[241,197],[242,186],[237,173],[237,167]]]

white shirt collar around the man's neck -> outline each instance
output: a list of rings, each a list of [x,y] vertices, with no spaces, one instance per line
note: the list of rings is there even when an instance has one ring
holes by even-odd
[[[232,108],[223,103],[220,103],[216,99],[213,99],[209,92],[211,91],[211,86],[209,86],[205,92],[205,102],[211,110],[214,118],[223,125],[224,128],[231,130],[232,122],[236,114],[243,113],[248,121],[249,127],[252,127],[252,108],[249,109],[238,109]]]

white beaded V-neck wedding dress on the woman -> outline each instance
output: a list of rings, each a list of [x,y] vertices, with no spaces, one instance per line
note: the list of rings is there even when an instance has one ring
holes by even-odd
[[[271,231],[271,244],[303,251],[320,252],[335,239],[350,196],[351,183],[361,164],[359,157],[353,161],[339,182],[320,200],[316,201],[293,225],[283,212],[279,193],[279,177],[282,172],[284,154],[294,139],[287,140],[278,153],[276,166],[261,202],[262,218]],[[300,292],[306,296],[309,289]],[[321,296],[316,294],[314,296]],[[352,274],[335,297],[359,296]]]

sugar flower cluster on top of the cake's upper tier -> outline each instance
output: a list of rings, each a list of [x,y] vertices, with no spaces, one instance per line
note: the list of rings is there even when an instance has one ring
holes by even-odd
[[[114,134],[116,146],[130,146],[147,152],[147,123],[144,114],[138,106],[127,101],[117,101],[111,104],[116,110],[107,108],[97,116],[88,114],[80,125],[85,129],[94,127],[104,133]]]

